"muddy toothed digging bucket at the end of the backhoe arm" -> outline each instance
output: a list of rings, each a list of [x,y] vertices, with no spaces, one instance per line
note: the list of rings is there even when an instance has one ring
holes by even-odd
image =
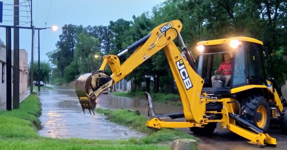
[[[76,94],[83,112],[88,109],[95,115],[96,99],[107,88],[113,85],[113,79],[103,70],[82,74],[76,81]],[[92,114],[91,114],[92,115]]]

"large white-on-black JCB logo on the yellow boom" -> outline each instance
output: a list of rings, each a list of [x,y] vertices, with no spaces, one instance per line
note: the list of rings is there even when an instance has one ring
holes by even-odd
[[[190,88],[192,88],[192,83],[191,80],[189,78],[189,75],[187,74],[187,70],[183,64],[182,59],[176,62],[177,64],[177,68],[179,70],[179,73],[181,75],[181,79],[185,85],[186,90],[189,90]]]

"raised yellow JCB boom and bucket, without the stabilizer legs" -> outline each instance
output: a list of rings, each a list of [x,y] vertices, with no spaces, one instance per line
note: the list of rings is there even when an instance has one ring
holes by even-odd
[[[186,119],[203,123],[204,119],[195,117],[191,111],[195,110],[198,114],[196,116],[204,116],[205,102],[200,102],[203,79],[193,70],[195,64],[193,59],[191,59],[190,52],[183,43],[179,33],[181,29],[182,24],[179,20],[163,23],[154,28],[146,37],[135,42],[120,54],[104,56],[103,63],[98,71],[84,74],[77,80],[76,92],[83,110],[94,110],[96,97],[98,97],[104,89],[119,82],[137,66],[159,50],[164,49],[168,64],[170,65],[181,95]],[[178,50],[173,42],[176,37],[179,38],[179,43],[184,50],[183,53]],[[119,56],[136,47],[138,47],[137,50],[135,50],[123,64],[120,64]],[[187,60],[189,60],[189,62]],[[110,77],[103,71],[106,64],[110,66],[113,72]],[[193,68],[191,66],[193,66]]]

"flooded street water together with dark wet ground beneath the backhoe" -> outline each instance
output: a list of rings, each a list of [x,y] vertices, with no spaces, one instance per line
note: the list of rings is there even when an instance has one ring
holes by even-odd
[[[111,123],[102,114],[86,115],[78,101],[74,89],[64,89],[53,86],[51,90],[41,90],[38,95],[42,103],[42,115],[40,121],[44,128],[38,133],[46,137],[58,138],[83,138],[83,139],[128,139],[130,137],[142,137],[141,133],[132,131],[127,127]],[[101,94],[97,101],[97,108],[139,110],[141,115],[147,114],[147,101],[145,99],[133,99],[111,94]],[[166,113],[182,112],[182,106],[154,103],[156,115]],[[214,149],[257,149],[248,146],[247,139],[221,129],[220,124],[215,132],[209,136],[197,136],[202,143],[210,145]],[[182,131],[192,134],[188,128]],[[265,149],[287,149],[286,135],[281,135],[278,129],[269,129],[268,132],[277,139],[277,147],[265,147]]]

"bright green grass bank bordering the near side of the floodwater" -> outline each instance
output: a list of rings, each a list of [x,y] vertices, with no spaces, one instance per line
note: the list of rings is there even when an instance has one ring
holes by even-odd
[[[195,139],[192,135],[174,129],[162,129],[159,132],[148,130],[145,126],[148,118],[138,116],[134,112],[127,112],[127,110],[112,111],[98,108],[96,111],[105,114],[110,121],[145,133],[146,136],[127,140],[54,139],[41,137],[37,133],[37,129],[42,128],[38,119],[41,114],[40,101],[36,95],[30,95],[20,103],[20,109],[0,111],[0,149],[167,150],[170,149],[170,145],[164,143],[168,141],[174,139]]]

